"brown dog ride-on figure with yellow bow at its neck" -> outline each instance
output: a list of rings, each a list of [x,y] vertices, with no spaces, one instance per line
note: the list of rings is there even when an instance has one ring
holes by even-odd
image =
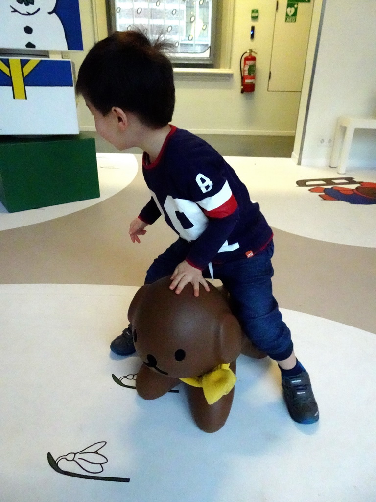
[[[232,314],[226,295],[209,284],[195,297],[192,285],[180,294],[169,289],[169,277],[142,286],[128,319],[143,364],[136,390],[156,399],[181,381],[189,384],[191,411],[205,432],[225,424],[234,397],[236,359],[240,353],[262,358]]]

